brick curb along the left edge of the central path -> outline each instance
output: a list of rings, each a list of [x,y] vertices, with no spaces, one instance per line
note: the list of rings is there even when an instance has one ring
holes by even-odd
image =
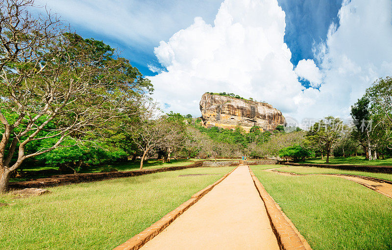
[[[238,168],[235,167],[232,171],[229,173],[223,175],[219,180],[214,182],[211,185],[208,185],[204,189],[200,190],[193,196],[191,196],[191,199],[185,201],[181,205],[179,205],[177,208],[166,214],[164,217],[162,217],[160,220],[155,222],[154,224],[150,225],[147,227],[145,230],[142,232],[136,234],[120,246],[114,248],[113,250],[138,250],[143,245],[147,243],[147,241],[151,240],[154,238],[158,233],[163,231],[168,225],[170,225],[178,216],[180,216],[182,213],[184,213],[189,207],[191,207],[193,204],[196,203],[196,201],[200,200],[205,194],[210,192],[216,185],[221,183],[222,180],[224,180],[228,175],[230,175],[234,170]]]

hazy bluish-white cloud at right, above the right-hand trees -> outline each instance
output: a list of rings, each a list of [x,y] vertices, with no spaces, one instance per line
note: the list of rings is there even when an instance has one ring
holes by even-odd
[[[392,75],[392,1],[344,0],[339,25],[315,48],[323,83],[319,92],[307,89],[313,105],[302,105],[298,116],[349,117],[350,106],[374,80]]]

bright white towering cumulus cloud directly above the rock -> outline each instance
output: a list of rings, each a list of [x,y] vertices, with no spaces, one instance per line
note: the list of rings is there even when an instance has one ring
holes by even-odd
[[[155,48],[167,72],[149,77],[154,97],[183,114],[200,114],[204,92],[232,92],[295,112],[293,97],[304,88],[293,71],[284,31],[285,13],[276,0],[225,0],[214,25],[196,17]]]

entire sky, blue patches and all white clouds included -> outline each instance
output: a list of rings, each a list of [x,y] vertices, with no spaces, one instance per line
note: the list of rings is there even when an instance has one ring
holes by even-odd
[[[36,0],[121,51],[164,111],[204,92],[265,100],[296,120],[349,117],[392,72],[392,0]]]

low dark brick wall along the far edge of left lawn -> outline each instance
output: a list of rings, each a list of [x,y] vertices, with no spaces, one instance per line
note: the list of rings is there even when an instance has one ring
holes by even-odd
[[[146,169],[146,170],[135,170],[135,171],[119,171],[109,173],[88,173],[88,174],[76,174],[76,175],[54,175],[49,178],[41,178],[35,180],[11,182],[8,185],[9,190],[24,189],[24,188],[43,188],[43,187],[54,187],[64,184],[90,182],[111,178],[131,177],[138,175],[148,175],[159,172],[174,171],[188,168],[201,167],[202,162],[196,162],[188,166],[179,167],[166,167],[159,169]]]

